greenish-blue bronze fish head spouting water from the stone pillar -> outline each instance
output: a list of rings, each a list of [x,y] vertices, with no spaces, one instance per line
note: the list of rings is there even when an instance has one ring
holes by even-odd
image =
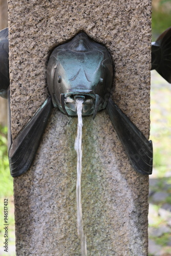
[[[82,115],[95,117],[106,107],[113,79],[108,50],[86,33],[52,52],[47,70],[48,88],[55,107],[69,116],[77,115],[76,99],[82,99]]]

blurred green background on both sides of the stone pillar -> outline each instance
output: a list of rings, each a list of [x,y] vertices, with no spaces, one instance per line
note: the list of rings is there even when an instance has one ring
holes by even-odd
[[[5,0],[4,0],[5,1]],[[2,0],[0,0],[1,5]],[[171,26],[171,0],[153,0],[152,41]],[[7,10],[7,8],[5,9]],[[1,28],[2,29],[2,28]],[[170,42],[171,44],[171,42]],[[171,85],[152,71],[151,138],[154,170],[149,178],[149,256],[171,255]],[[9,248],[4,252],[0,227],[0,255],[15,255],[13,179],[7,156],[7,127],[0,126],[0,223],[4,223],[4,199],[9,200]],[[141,256],[141,255],[137,255]]]

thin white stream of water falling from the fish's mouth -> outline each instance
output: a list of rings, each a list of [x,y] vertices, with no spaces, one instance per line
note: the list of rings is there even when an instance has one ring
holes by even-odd
[[[77,125],[77,137],[75,139],[75,150],[77,152],[77,227],[78,236],[81,241],[81,254],[87,256],[87,244],[86,236],[84,236],[82,225],[82,207],[81,207],[81,173],[82,173],[82,103],[83,99],[76,99],[78,125]]]

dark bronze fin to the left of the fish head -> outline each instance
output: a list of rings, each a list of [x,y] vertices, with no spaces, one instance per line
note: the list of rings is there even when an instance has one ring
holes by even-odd
[[[51,109],[52,101],[51,96],[49,96],[17,137],[13,141],[11,139],[9,164],[12,177],[22,175],[30,168],[45,131]]]

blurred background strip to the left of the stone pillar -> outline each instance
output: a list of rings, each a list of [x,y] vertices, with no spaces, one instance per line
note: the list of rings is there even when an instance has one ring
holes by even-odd
[[[0,0],[0,30],[8,26],[7,0]],[[0,255],[15,255],[13,178],[7,156],[7,100],[0,97]],[[4,199],[8,199],[8,252],[4,251]]]

